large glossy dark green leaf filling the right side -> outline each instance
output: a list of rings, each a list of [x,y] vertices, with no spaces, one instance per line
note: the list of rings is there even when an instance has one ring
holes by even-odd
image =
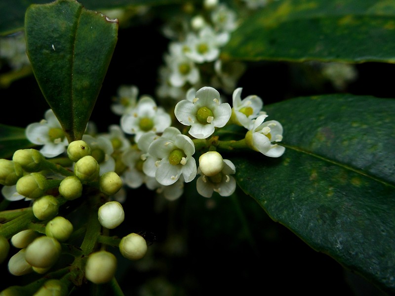
[[[395,292],[395,100],[328,95],[265,111],[285,153],[231,158],[238,185],[316,251]]]

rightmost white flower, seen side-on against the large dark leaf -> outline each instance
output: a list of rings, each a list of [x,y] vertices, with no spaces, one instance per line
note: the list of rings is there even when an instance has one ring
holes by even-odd
[[[285,148],[272,143],[282,140],[282,125],[276,120],[263,122],[266,117],[267,115],[263,114],[253,120],[245,139],[254,150],[269,157],[279,157],[284,153]]]

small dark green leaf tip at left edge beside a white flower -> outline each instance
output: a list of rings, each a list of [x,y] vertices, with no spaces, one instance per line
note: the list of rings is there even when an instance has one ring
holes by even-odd
[[[0,124],[0,158],[9,158],[18,149],[32,148],[21,127]]]

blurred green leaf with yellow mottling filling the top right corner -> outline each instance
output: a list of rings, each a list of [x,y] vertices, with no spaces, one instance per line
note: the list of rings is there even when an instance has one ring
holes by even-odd
[[[224,57],[395,62],[392,0],[281,0],[244,18]]]

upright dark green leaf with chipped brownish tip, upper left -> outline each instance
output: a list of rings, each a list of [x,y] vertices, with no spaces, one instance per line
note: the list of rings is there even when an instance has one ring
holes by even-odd
[[[41,91],[69,142],[79,140],[117,43],[118,22],[75,0],[31,5],[27,53]]]

